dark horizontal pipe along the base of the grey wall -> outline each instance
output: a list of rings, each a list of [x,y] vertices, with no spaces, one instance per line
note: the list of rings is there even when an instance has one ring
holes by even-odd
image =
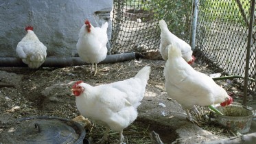
[[[106,59],[100,63],[115,63],[123,62],[126,60],[133,60],[137,58],[136,53],[121,53],[115,55],[107,55]],[[85,65],[88,64],[84,62],[79,57],[70,57],[70,58],[56,58],[56,57],[47,57],[45,62],[41,67],[70,67],[76,65]],[[27,64],[24,64],[21,58],[0,58],[0,67],[27,67]]]

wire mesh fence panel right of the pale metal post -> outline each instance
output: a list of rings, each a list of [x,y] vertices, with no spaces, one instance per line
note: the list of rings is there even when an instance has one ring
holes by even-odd
[[[248,0],[200,1],[197,48],[227,75],[244,77],[250,15],[251,1]],[[253,27],[248,75],[255,78],[255,25]],[[243,84],[243,80],[239,82]],[[255,82],[248,83],[248,88],[255,91]]]

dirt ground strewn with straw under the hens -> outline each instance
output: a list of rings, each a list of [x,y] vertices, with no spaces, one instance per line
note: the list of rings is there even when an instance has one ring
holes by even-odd
[[[146,95],[139,106],[139,117],[124,130],[125,143],[152,143],[150,132],[157,132],[164,143],[200,143],[234,136],[216,123],[202,119],[200,126],[186,119],[185,111],[176,101],[167,99],[164,88],[163,60],[130,60],[115,64],[98,64],[98,73],[90,73],[91,65],[28,69],[21,67],[0,68],[0,135],[12,127],[12,121],[22,117],[54,116],[73,119],[79,115],[75,97],[71,95],[73,82],[83,80],[93,86],[107,84],[133,77],[146,64],[152,68]],[[206,74],[216,73],[200,60],[194,69]],[[242,91],[231,81],[222,86],[233,93],[235,101],[241,102]],[[251,101],[251,97],[249,97]],[[163,103],[164,106],[159,106]],[[92,131],[93,142],[102,137],[104,128],[96,125]],[[1,136],[0,136],[1,138]],[[86,135],[88,138],[88,134]],[[118,139],[117,132],[110,132],[109,143]],[[0,143],[7,143],[3,139]]]

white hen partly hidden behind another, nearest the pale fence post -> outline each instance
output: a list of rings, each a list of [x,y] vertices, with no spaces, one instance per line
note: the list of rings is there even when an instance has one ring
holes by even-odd
[[[163,19],[159,21],[159,26],[161,28],[160,53],[163,60],[168,59],[167,46],[173,45],[174,47],[178,47],[179,49],[181,49],[182,58],[184,58],[184,60],[189,64],[192,64],[195,58],[194,56],[192,56],[193,51],[191,50],[190,45],[187,44],[184,40],[181,40],[180,38],[172,34]]]

